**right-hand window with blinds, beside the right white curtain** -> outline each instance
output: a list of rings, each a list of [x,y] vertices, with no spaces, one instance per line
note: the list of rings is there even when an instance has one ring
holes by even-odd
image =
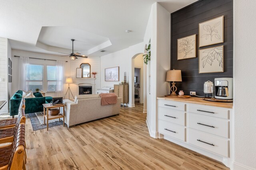
[[[56,66],[47,66],[47,92],[55,92],[56,86]]]

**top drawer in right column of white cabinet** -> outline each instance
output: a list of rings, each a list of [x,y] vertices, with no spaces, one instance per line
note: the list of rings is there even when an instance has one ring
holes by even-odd
[[[208,115],[208,116],[210,115],[213,117],[220,117],[224,119],[229,118],[228,110],[212,108],[212,107],[188,105],[188,112],[199,113],[199,114]]]

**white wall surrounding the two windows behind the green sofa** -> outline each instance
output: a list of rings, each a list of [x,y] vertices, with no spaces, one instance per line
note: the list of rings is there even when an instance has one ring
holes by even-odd
[[[70,76],[70,58],[69,57],[60,57],[58,55],[50,55],[50,54],[43,54],[43,53],[34,53],[30,51],[21,51],[21,50],[12,50],[12,56],[24,56],[24,57],[33,57],[33,58],[39,58],[39,59],[50,59],[50,60],[60,60],[60,61],[68,61],[65,65],[65,77]],[[18,90],[18,69],[19,69],[19,59],[20,57],[12,57],[12,95],[17,92]],[[48,60],[38,60],[38,59],[29,59],[31,64],[43,64],[44,67],[46,65],[55,65],[56,61],[48,61]],[[44,72],[46,74],[46,72]],[[68,86],[65,84],[65,90],[63,92],[64,94],[67,90]],[[47,91],[47,84],[44,84],[44,92]],[[54,92],[46,93],[46,96],[52,96],[55,97]]]

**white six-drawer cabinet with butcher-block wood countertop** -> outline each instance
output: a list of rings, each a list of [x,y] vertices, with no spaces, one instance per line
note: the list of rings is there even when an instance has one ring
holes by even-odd
[[[194,150],[230,167],[233,158],[233,104],[202,98],[158,99],[159,138]]]

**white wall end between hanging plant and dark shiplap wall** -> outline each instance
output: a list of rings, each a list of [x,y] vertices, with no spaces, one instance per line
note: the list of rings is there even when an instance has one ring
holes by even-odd
[[[170,70],[170,12],[160,4],[152,5],[150,84],[147,124],[151,137],[157,137],[157,97],[169,93],[166,72]],[[149,82],[148,82],[149,83]]]

